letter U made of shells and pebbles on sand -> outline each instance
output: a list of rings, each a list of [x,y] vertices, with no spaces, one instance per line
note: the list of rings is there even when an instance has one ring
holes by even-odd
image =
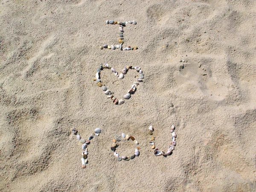
[[[175,126],[172,125],[172,127],[171,127],[172,143],[170,144],[170,146],[169,146],[169,148],[167,149],[166,152],[165,152],[165,151],[160,151],[160,150],[158,150],[158,148],[155,147],[155,144],[154,144],[154,137],[151,136],[149,145],[151,145],[151,149],[154,149],[154,155],[155,155],[155,156],[163,155],[164,157],[166,157],[167,155],[172,154],[172,151],[174,150],[174,148],[175,148],[175,146],[176,146],[176,137],[177,137],[177,135],[176,135],[176,133],[175,133],[174,130],[175,130]],[[152,125],[150,125],[150,126],[149,126],[149,132],[148,132],[148,134],[153,135],[153,131],[154,131],[154,129],[153,129]]]

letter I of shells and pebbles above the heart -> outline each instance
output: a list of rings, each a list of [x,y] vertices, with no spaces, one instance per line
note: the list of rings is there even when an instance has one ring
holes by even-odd
[[[124,35],[123,35],[124,29],[123,28],[129,23],[134,24],[134,25],[137,24],[137,22],[135,20],[133,20],[133,21],[124,21],[124,22],[106,20],[106,24],[112,24],[112,25],[118,24],[119,25],[119,31],[120,31],[119,32],[119,41],[118,41],[119,44],[103,45],[103,46],[100,47],[100,49],[111,49],[111,50],[120,49],[121,51],[130,51],[130,50],[138,49],[137,46],[134,46],[134,47],[128,46],[128,47],[123,48],[123,44],[124,44]]]

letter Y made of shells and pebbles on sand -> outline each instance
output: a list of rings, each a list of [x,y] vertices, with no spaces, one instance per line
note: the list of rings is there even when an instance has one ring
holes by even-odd
[[[88,148],[87,148],[87,145],[90,144],[91,140],[94,138],[94,136],[99,136],[99,134],[101,133],[101,129],[100,128],[96,128],[94,130],[95,133],[93,133],[89,139],[86,141],[85,139],[82,139],[79,132],[77,131],[76,128],[73,128],[72,129],[72,132],[74,135],[76,135],[76,138],[77,140],[79,140],[79,144],[82,145],[82,158],[81,158],[81,161],[82,161],[82,168],[86,168],[86,164],[88,163],[88,160],[87,160],[87,155],[88,155]]]

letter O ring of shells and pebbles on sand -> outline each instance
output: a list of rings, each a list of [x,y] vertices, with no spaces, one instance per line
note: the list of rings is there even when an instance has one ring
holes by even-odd
[[[113,139],[113,144],[111,147],[111,150],[114,151],[114,156],[117,158],[117,160],[118,161],[122,161],[122,160],[129,161],[131,159],[134,159],[135,157],[138,157],[140,155],[140,151],[139,151],[140,147],[135,148],[134,154],[132,154],[131,156],[121,156],[119,153],[116,152],[116,147],[118,147],[119,142],[132,140],[135,145],[139,144],[138,141],[135,140],[135,138],[133,136],[129,136],[124,133],[122,133],[121,135],[122,135],[122,137],[120,135],[115,136],[115,139]]]

